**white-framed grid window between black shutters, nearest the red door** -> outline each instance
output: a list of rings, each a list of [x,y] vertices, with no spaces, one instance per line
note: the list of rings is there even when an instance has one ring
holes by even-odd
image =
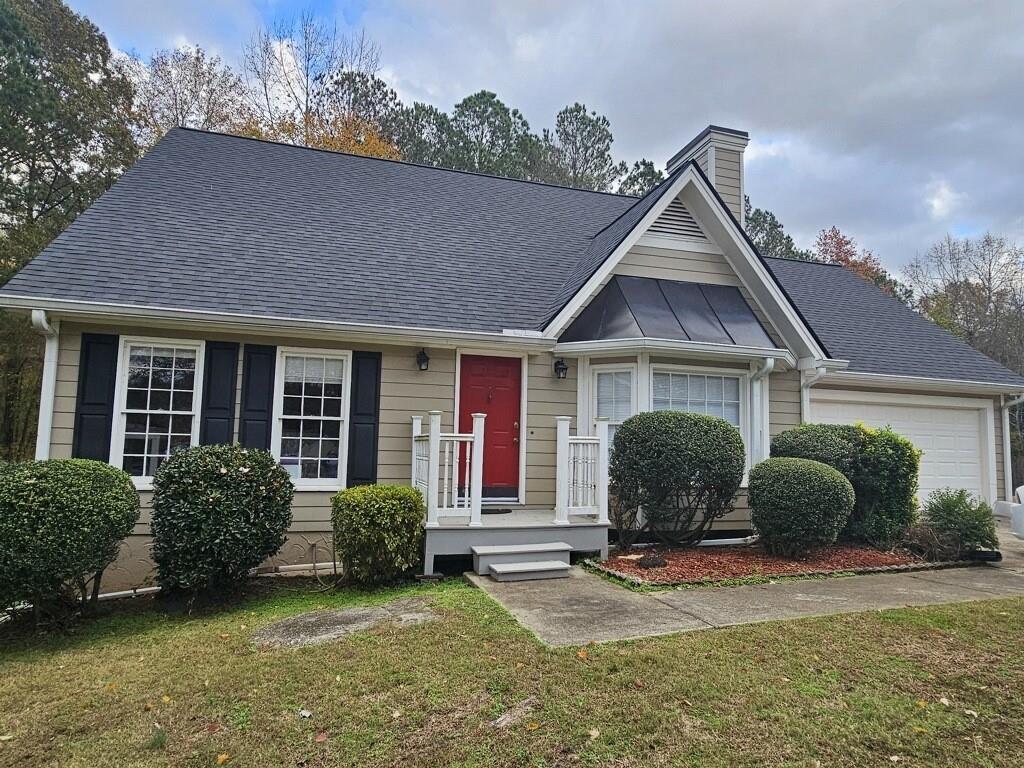
[[[344,480],[349,354],[282,350],[273,444],[298,484],[338,487]]]

